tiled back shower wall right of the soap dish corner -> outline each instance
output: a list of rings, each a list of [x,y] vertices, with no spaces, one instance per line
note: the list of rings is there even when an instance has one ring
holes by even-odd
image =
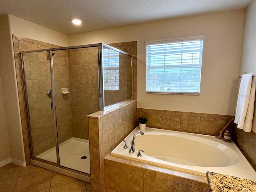
[[[87,115],[99,110],[98,48],[68,50],[73,136],[89,140]]]

